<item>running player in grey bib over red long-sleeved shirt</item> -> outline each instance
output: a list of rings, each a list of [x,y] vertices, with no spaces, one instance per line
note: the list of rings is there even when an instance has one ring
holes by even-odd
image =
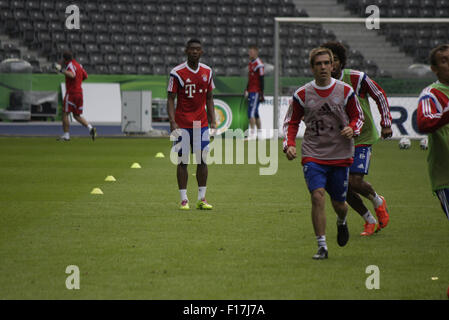
[[[325,192],[337,214],[337,242],[349,239],[346,223],[349,167],[354,156],[354,136],[363,126],[363,111],[351,86],[331,78],[333,55],[327,48],[310,52],[315,80],[293,94],[284,120],[284,152],[296,155],[296,134],[303,120],[306,131],[301,146],[304,178],[312,200],[312,223],[318,242],[313,259],[327,259]]]

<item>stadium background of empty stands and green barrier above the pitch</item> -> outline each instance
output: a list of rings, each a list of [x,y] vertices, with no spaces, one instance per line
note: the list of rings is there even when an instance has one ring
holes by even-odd
[[[65,26],[71,4],[80,10],[79,30]],[[366,17],[365,8],[371,4],[379,7],[381,17],[449,17],[447,0],[0,0],[0,61],[28,61],[32,90],[58,92],[56,120],[60,120],[63,79],[54,74],[52,63],[60,60],[64,49],[72,50],[83,64],[90,75],[87,83],[119,83],[122,91],[151,90],[153,98],[165,99],[169,70],[185,60],[186,40],[199,38],[205,51],[201,61],[214,70],[216,96],[235,98],[246,86],[247,47],[255,43],[267,66],[266,95],[272,95],[275,16]],[[310,80],[311,48],[339,40],[348,48],[347,66],[367,72],[389,97],[417,96],[434,81],[427,55],[437,44],[449,42],[446,27],[384,24],[367,39],[364,26],[284,25],[281,93],[289,95]],[[9,107],[10,93],[0,87],[0,109]],[[242,110],[241,102],[233,99],[230,104]],[[164,108],[163,103],[153,106],[156,122],[167,120]],[[244,119],[244,112],[240,113],[239,119]],[[245,127],[247,122],[242,121],[235,127]]]

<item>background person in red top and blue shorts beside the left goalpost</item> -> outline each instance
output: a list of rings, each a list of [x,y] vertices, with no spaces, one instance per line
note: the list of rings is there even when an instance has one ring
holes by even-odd
[[[259,58],[259,48],[256,45],[251,45],[248,48],[248,84],[245,90],[245,97],[248,98],[248,119],[250,132],[248,139],[257,137],[257,131],[260,132],[262,124],[259,116],[259,103],[265,101],[264,99],[264,75],[265,67],[262,60]]]

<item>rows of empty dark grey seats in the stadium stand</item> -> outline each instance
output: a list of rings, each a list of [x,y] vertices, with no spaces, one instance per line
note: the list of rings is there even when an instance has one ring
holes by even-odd
[[[362,14],[365,2],[378,3],[385,7],[382,12],[390,16],[404,13],[445,16],[444,10],[449,7],[449,0],[335,1],[344,2],[357,15]],[[34,72],[48,72],[48,63],[42,65],[43,59],[56,61],[62,50],[71,49],[89,73],[164,75],[185,60],[185,42],[199,38],[205,51],[202,60],[214,68],[215,74],[239,76],[247,65],[249,44],[258,44],[261,58],[274,63],[273,17],[308,16],[292,0],[78,0],[76,3],[80,9],[80,30],[65,28],[66,7],[72,2],[0,0],[0,36],[6,35],[33,52],[23,52],[27,50],[3,41],[0,60],[21,57],[33,65]],[[445,29],[431,26],[427,33],[406,26],[382,32],[417,61],[422,61],[429,47],[440,38],[447,38]],[[437,37],[429,38],[430,32]],[[322,42],[336,40],[331,30],[319,25],[283,26],[280,36],[284,76],[311,76],[308,51]],[[349,49],[352,67],[367,70],[373,76],[384,75],[375,62],[366,61],[360,51]]]

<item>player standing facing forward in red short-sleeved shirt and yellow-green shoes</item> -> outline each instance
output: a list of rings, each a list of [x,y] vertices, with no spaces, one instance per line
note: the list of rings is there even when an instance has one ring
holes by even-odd
[[[185,53],[187,61],[176,66],[170,72],[168,83],[167,112],[170,131],[177,131],[178,152],[177,180],[181,196],[180,209],[188,210],[187,164],[190,150],[195,152],[198,161],[196,179],[198,182],[197,209],[210,210],[206,201],[206,182],[208,169],[206,153],[209,145],[209,126],[216,128],[215,109],[212,90],[215,88],[212,69],[199,62],[203,53],[201,42],[191,39],[187,42]],[[176,110],[175,110],[175,98]],[[207,112],[206,112],[207,109]],[[186,143],[187,141],[187,143]]]

